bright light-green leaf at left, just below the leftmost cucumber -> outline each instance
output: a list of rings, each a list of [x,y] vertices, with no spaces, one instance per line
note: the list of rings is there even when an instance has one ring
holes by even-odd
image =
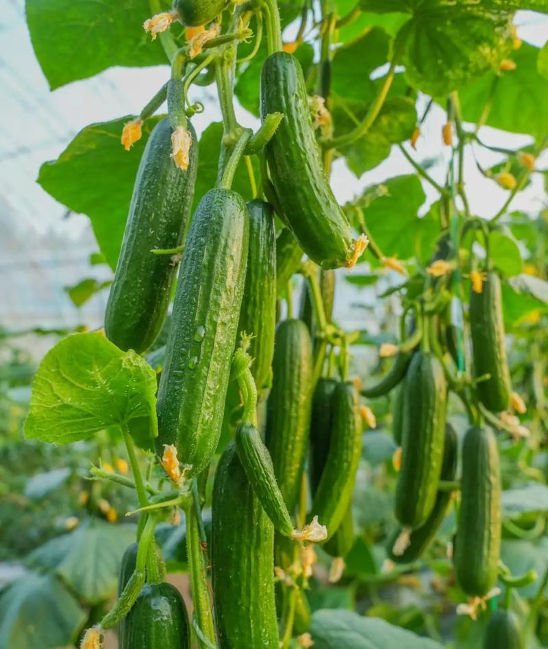
[[[127,425],[139,446],[151,448],[158,435],[155,392],[156,375],[145,359],[119,350],[101,333],[76,333],[42,360],[25,435],[69,444]]]

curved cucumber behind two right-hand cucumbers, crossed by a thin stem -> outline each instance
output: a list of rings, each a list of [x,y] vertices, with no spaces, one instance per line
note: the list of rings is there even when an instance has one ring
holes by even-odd
[[[458,462],[458,437],[455,429],[451,424],[445,426],[445,447],[443,450],[443,463],[441,468],[440,479],[454,480],[457,471]],[[423,552],[427,549],[432,540],[436,536],[439,526],[442,524],[443,519],[447,513],[447,507],[451,502],[452,492],[438,491],[434,508],[430,512],[425,524],[412,530],[409,537],[409,544],[401,554],[394,554],[394,546],[402,533],[399,528],[388,540],[386,546],[386,553],[388,559],[395,561],[395,563],[411,563],[419,559]]]

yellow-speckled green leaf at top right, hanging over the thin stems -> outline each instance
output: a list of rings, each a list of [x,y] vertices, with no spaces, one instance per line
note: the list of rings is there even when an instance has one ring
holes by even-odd
[[[508,52],[508,15],[481,7],[417,10],[397,36],[401,63],[413,88],[445,97],[498,69]]]

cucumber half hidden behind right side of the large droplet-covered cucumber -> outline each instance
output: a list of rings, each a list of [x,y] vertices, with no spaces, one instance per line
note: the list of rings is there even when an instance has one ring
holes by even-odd
[[[251,372],[260,390],[271,377],[276,328],[276,231],[272,208],[264,201],[247,203],[249,253],[245,291],[240,310],[240,333],[253,334]]]

